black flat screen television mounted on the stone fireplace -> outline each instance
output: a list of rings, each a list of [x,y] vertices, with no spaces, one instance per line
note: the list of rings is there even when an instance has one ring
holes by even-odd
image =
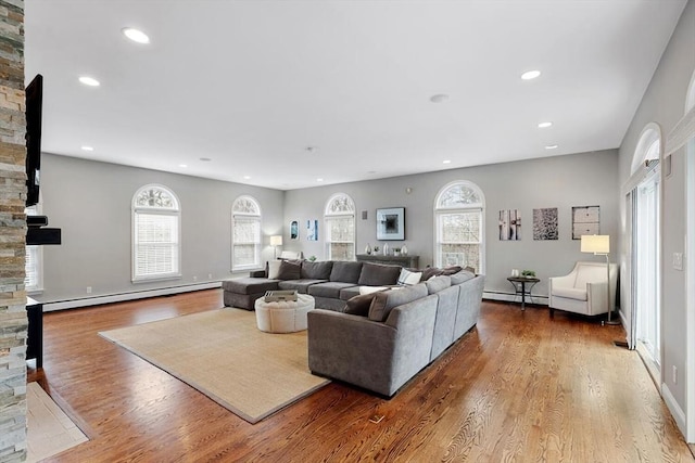
[[[26,206],[39,202],[41,183],[41,107],[43,77],[38,74],[26,88]]]

